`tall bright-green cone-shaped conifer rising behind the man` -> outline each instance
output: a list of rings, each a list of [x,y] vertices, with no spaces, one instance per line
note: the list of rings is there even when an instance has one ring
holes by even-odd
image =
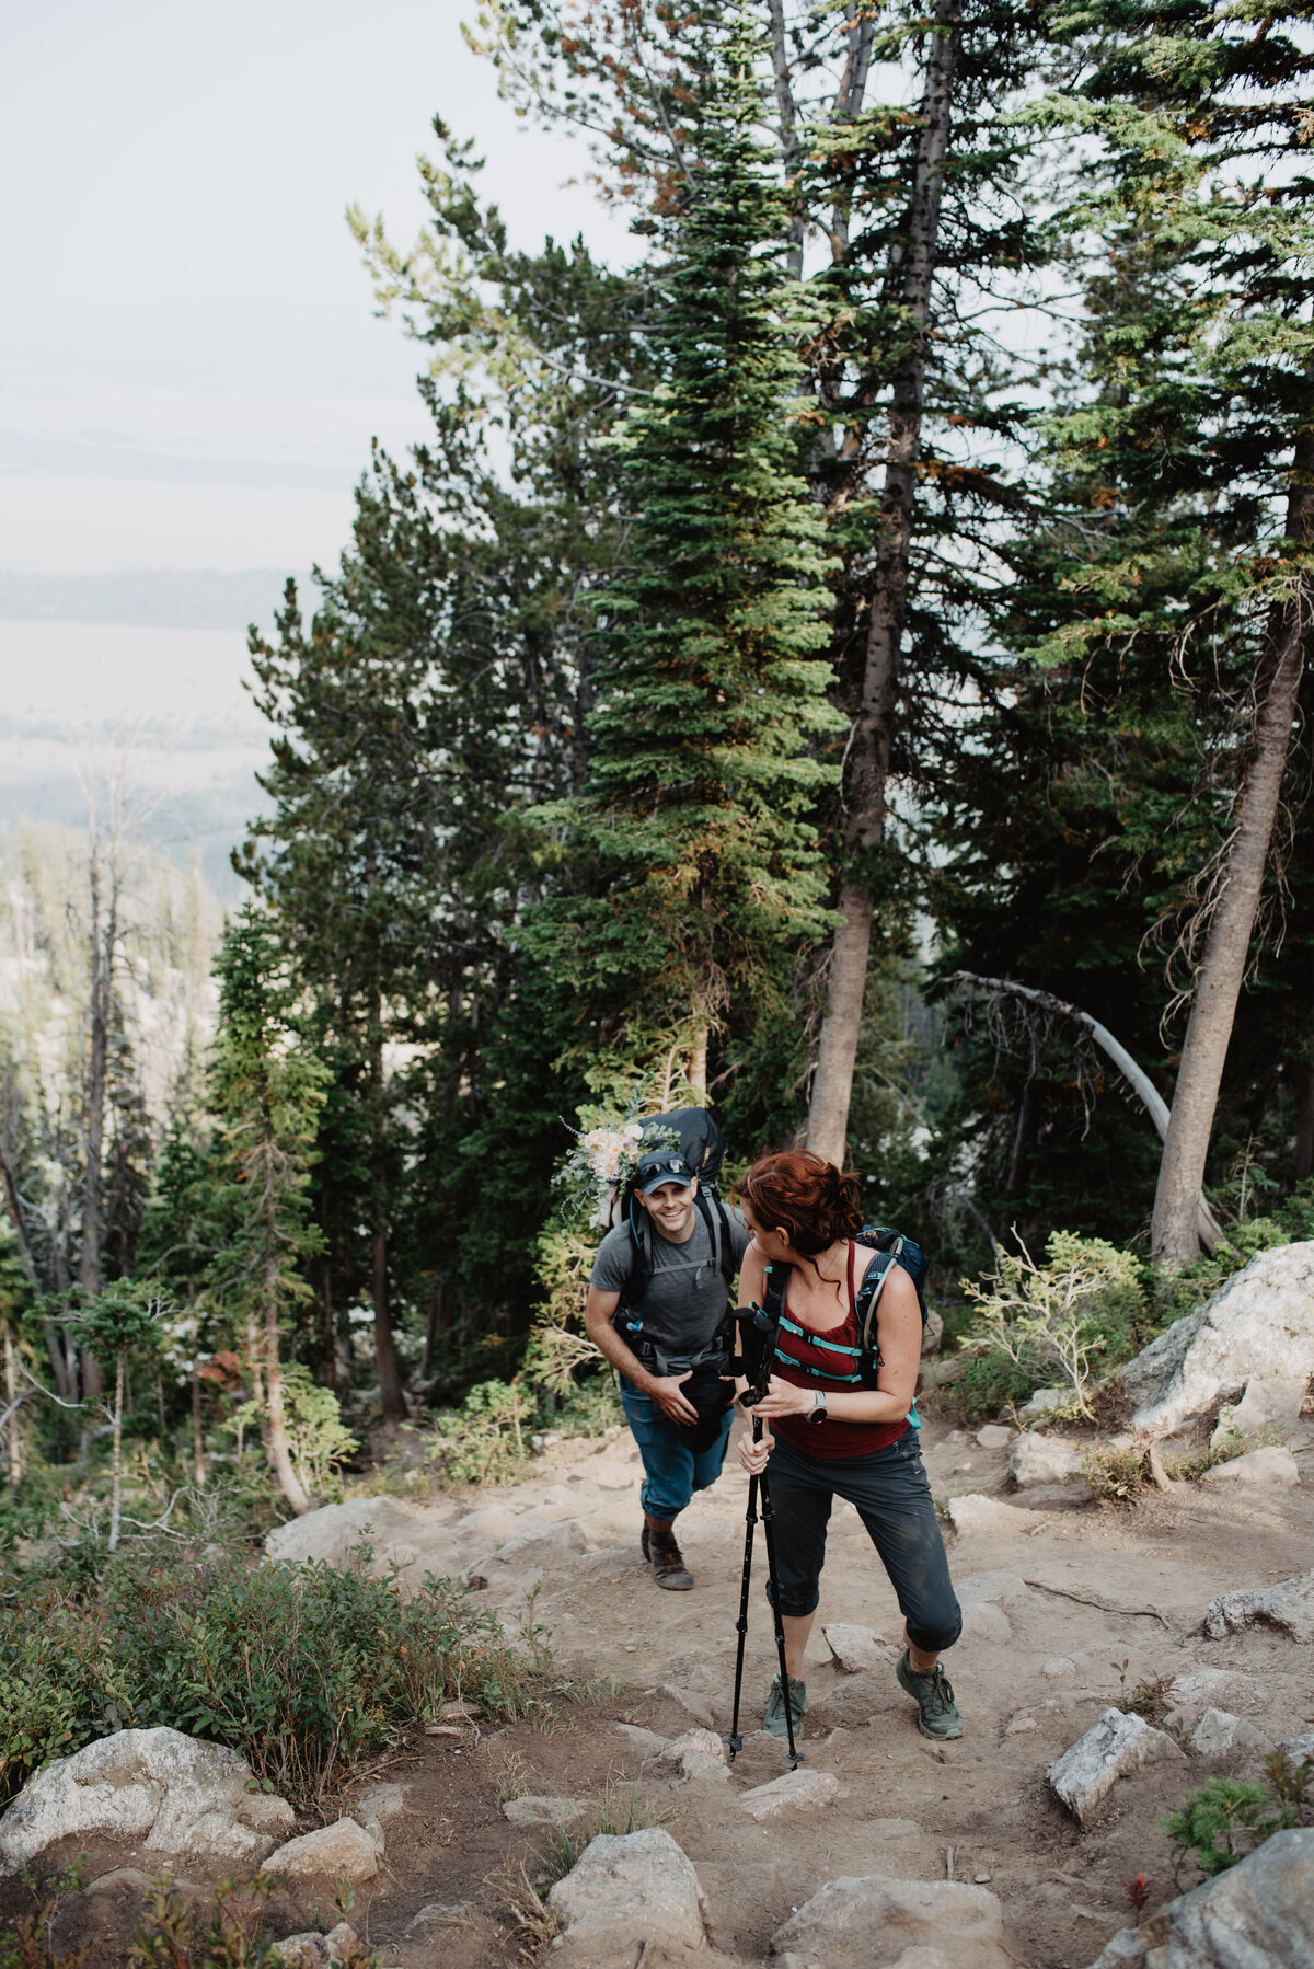
[[[589,780],[542,813],[581,892],[528,929],[579,1000],[571,1057],[609,1093],[672,1048],[705,1093],[713,1034],[733,1065],[825,927],[808,809],[839,723],[829,563],[798,471],[798,291],[747,12],[707,28],[703,77],[701,148],[664,222],[664,380],[621,437],[628,565],[599,610]]]

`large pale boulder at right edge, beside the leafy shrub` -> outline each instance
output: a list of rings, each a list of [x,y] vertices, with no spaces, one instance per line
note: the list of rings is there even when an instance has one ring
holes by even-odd
[[[1170,1435],[1255,1380],[1314,1374],[1314,1242],[1261,1250],[1212,1300],[1119,1368],[1133,1429]]]

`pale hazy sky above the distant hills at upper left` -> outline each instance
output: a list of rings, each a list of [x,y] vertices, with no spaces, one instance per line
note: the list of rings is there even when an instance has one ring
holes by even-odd
[[[575,144],[498,102],[473,0],[41,0],[0,73],[0,567],[331,559],[370,435],[420,433],[422,352],[343,222],[420,226],[439,112],[512,236],[628,238]]]

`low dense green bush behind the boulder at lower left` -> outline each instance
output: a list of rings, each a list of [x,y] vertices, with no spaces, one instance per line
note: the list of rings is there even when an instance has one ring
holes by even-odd
[[[18,1573],[0,1599],[0,1800],[97,1737],[169,1725],[305,1806],[451,1695],[496,1719],[538,1705],[546,1670],[449,1579],[404,1599],[364,1565],[230,1556]]]

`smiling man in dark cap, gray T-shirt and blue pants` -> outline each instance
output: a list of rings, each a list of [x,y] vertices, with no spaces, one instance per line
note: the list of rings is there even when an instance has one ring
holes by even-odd
[[[719,1162],[719,1158],[717,1158]],[[731,1435],[729,1288],[749,1231],[735,1209],[699,1197],[680,1150],[640,1156],[624,1221],[597,1248],[585,1329],[621,1374],[621,1404],[644,1461],[642,1556],[652,1577],[688,1593],[693,1575],[676,1518],[715,1483]]]

